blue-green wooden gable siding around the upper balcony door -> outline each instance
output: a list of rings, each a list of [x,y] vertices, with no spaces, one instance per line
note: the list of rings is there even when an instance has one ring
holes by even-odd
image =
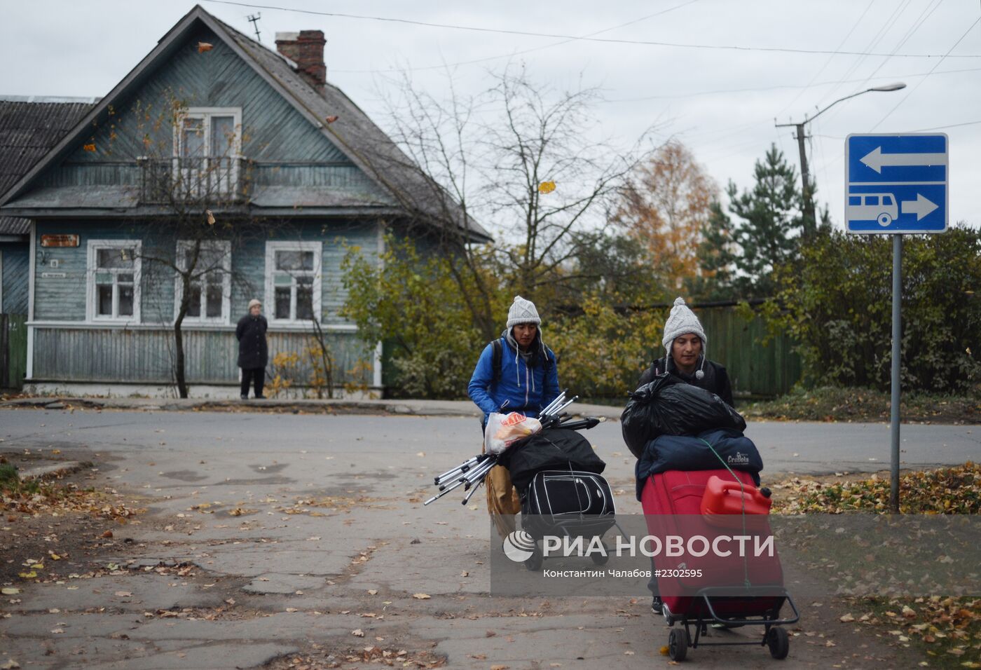
[[[214,49],[199,54],[199,41]],[[138,184],[137,157],[173,154],[169,111],[180,100],[187,107],[241,109],[242,155],[259,164],[252,172],[255,185],[325,185],[384,197],[320,129],[207,28],[191,34],[173,58],[145,75],[38,185]],[[83,148],[88,143],[94,152]]]

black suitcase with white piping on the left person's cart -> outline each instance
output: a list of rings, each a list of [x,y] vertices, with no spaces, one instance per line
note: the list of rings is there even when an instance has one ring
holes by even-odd
[[[613,491],[601,475],[542,470],[521,496],[521,526],[533,537],[594,536],[616,520]]]

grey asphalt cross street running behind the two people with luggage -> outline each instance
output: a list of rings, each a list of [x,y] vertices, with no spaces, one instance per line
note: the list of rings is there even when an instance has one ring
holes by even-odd
[[[618,454],[630,458],[619,423],[601,424],[589,435],[611,465]],[[747,435],[769,474],[874,472],[889,467],[890,432],[885,424],[753,422]],[[904,467],[981,458],[981,427],[905,425],[901,435]],[[106,451],[163,446],[245,454],[350,447],[351,453],[379,457],[425,451],[439,455],[439,463],[447,467],[480,448],[477,422],[469,418],[221,412],[0,411],[0,438],[5,446],[69,444]],[[409,463],[417,465],[414,460]]]

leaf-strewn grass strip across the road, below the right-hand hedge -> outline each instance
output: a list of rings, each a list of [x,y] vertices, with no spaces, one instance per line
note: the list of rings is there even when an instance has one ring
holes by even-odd
[[[739,409],[747,419],[888,422],[891,396],[873,388],[819,387]],[[910,391],[903,394],[900,412],[907,422],[981,424],[981,387],[964,395]]]

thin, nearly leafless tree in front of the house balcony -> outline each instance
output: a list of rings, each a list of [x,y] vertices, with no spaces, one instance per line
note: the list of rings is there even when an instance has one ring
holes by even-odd
[[[184,322],[228,322],[232,284],[253,289],[232,267],[232,250],[263,238],[266,227],[246,204],[251,168],[239,155],[240,125],[232,117],[205,125],[188,115],[183,100],[172,93],[165,97],[162,109],[141,101],[132,105],[139,202],[155,216],[125,224],[140,243],[120,253],[138,259],[142,283],[157,289],[144,299],[156,305],[161,323],[172,323],[173,380],[180,397],[187,397]],[[168,294],[162,283],[169,282],[173,302],[160,299]]]

